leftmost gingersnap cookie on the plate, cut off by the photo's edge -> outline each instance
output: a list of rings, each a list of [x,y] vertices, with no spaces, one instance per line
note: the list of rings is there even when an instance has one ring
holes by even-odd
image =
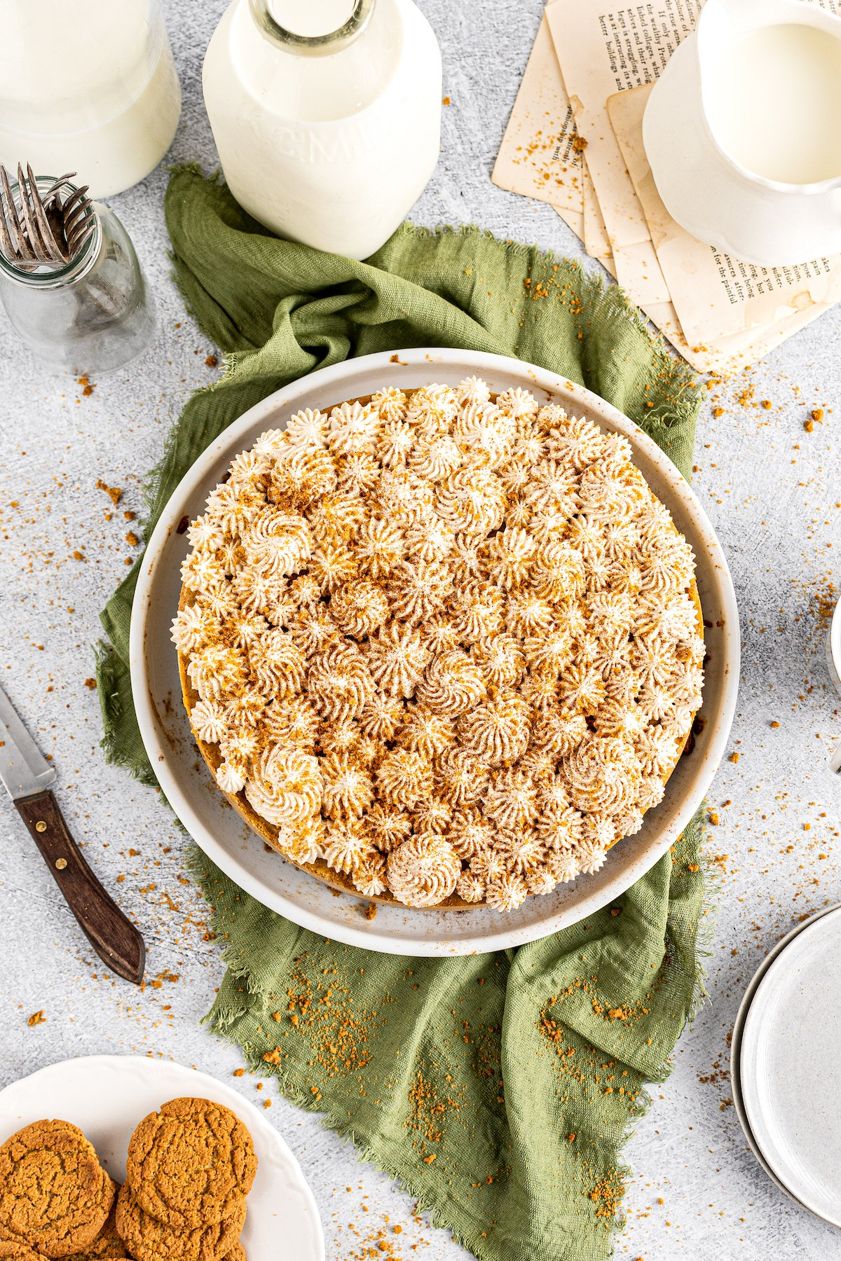
[[[77,1126],[34,1121],[0,1146],[0,1240],[48,1257],[81,1252],[105,1226],[113,1188]]]

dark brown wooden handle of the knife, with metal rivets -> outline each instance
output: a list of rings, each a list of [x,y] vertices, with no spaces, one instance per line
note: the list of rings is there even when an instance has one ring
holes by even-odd
[[[140,985],[144,939],[82,857],[52,792],[21,797],[15,806],[93,950],[117,976]]]

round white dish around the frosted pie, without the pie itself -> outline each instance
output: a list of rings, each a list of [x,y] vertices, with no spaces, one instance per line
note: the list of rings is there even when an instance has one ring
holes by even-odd
[[[595,875],[579,876],[546,897],[528,898],[509,914],[484,907],[438,912],[381,904],[376,918],[368,921],[364,900],[337,893],[266,852],[260,837],[218,792],[195,748],[170,642],[180,564],[188,551],[185,535],[177,531],[184,518],[203,512],[208,493],[233,456],[265,429],[284,425],[299,407],[327,407],[387,385],[455,385],[473,373],[493,391],[522,386],[540,402],[560,402],[630,441],[637,467],[670,508],[697,559],[709,654],[702,731],[695,750],[681,758],[661,805],[646,815],[642,831],[620,841]],[[666,852],[701,803],[726,747],[739,686],[739,617],[728,564],[706,513],[671,460],[627,416],[589,390],[519,359],[415,349],[349,359],[295,381],[247,411],[204,451],[149,541],[131,618],[130,661],[137,721],[160,786],[189,834],[237,884],[296,924],[351,946],[398,955],[468,955],[519,946],[576,923],[617,898]]]

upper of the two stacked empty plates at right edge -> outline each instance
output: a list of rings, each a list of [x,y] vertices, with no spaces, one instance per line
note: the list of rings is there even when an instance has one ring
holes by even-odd
[[[794,933],[765,968],[741,1030],[739,1086],[763,1164],[841,1227],[841,908]]]

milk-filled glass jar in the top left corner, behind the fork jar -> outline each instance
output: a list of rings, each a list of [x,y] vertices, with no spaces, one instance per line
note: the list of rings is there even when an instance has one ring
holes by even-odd
[[[3,0],[0,161],[121,193],[169,149],[182,95],[160,0]]]

